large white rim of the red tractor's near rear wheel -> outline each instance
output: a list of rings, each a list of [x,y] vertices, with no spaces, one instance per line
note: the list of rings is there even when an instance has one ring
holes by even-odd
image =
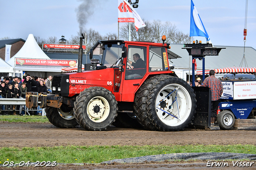
[[[166,97],[172,91],[173,93]],[[174,101],[175,99],[176,101]],[[184,123],[188,119],[191,109],[191,97],[182,85],[166,85],[156,97],[156,114],[160,121],[168,126],[175,127]]]

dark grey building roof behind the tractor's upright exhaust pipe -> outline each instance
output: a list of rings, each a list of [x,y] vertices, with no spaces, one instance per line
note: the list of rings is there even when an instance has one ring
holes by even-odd
[[[77,60],[78,54],[71,54],[71,53],[47,53],[45,52],[50,59],[69,59],[69,60]],[[87,59],[86,59],[87,58]],[[93,55],[93,59],[99,59],[101,61],[101,55]],[[89,54],[83,54],[82,64],[90,63]],[[106,64],[106,63],[105,63]]]

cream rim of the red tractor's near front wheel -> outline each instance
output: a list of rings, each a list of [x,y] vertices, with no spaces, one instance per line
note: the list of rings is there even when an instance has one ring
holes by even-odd
[[[91,121],[100,123],[108,118],[110,105],[104,97],[96,96],[89,101],[86,111]]]

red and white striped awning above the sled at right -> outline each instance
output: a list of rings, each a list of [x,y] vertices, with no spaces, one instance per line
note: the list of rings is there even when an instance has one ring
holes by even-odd
[[[210,70],[205,70],[205,74],[209,74]],[[214,69],[215,73],[256,73],[256,67],[226,67],[222,69]],[[198,75],[202,75],[203,71],[196,71]]]

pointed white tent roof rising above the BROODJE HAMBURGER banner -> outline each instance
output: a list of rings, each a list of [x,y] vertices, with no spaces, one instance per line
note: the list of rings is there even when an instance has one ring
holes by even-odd
[[[22,48],[7,63],[14,67],[15,58],[50,59],[37,44],[33,34],[29,34]]]

